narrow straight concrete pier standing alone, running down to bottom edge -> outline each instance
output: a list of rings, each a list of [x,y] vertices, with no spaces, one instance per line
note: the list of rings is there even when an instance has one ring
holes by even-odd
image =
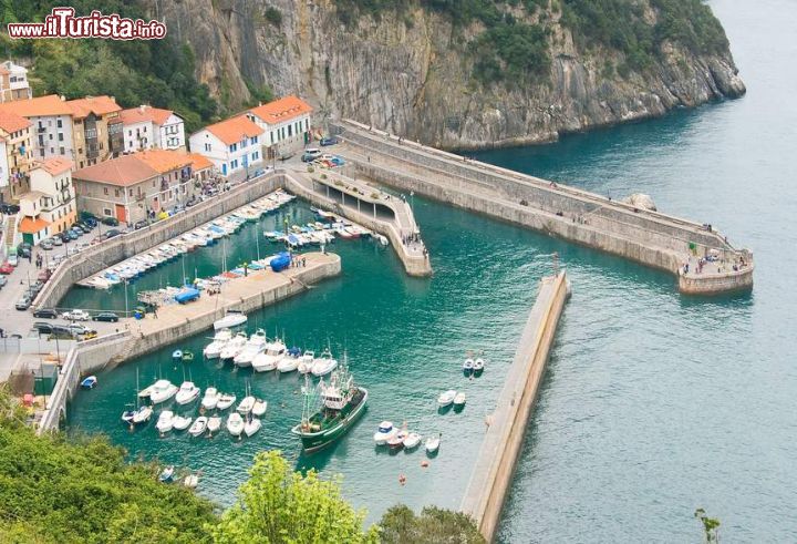
[[[460,507],[488,542],[495,536],[567,298],[565,273],[542,278],[496,409],[488,415],[489,427]]]

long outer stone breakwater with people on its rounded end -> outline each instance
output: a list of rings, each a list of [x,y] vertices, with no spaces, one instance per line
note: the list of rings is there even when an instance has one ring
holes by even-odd
[[[339,123],[348,174],[530,227],[660,268],[682,292],[753,286],[753,255],[710,225],[631,205],[420,145],[353,121]],[[683,265],[716,256],[698,271]]]

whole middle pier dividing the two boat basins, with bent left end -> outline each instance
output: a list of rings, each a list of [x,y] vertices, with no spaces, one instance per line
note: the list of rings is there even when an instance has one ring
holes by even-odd
[[[123,319],[118,324],[118,332],[77,342],[62,366],[38,432],[58,429],[59,422],[66,414],[66,402],[77,390],[81,377],[208,330],[228,309],[248,314],[303,291],[312,284],[341,271],[338,255],[307,253],[302,254],[302,258],[307,259],[306,267],[288,268],[281,273],[270,269],[250,271],[245,278],[225,284],[220,295],[203,295],[197,301],[187,305],[163,306],[158,309],[157,318],[147,315],[143,320]]]

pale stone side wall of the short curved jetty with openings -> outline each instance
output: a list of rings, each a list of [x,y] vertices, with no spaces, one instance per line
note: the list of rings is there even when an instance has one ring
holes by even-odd
[[[371,230],[386,236],[393,245],[393,249],[395,250],[396,255],[404,265],[404,269],[410,276],[428,276],[432,274],[432,267],[429,265],[428,257],[411,255],[402,243],[401,234],[396,230],[395,225],[393,225],[392,223],[375,218],[364,212],[358,212],[352,206],[341,205],[339,202],[332,198],[328,198],[327,196],[319,194],[318,192],[309,189],[304,186],[304,184],[294,179],[290,175],[284,176],[284,184],[286,188],[289,192],[304,198],[306,201],[309,201],[313,205],[321,206],[328,209],[334,209],[338,214],[346,217],[348,219],[354,223],[359,223],[360,225],[363,225]],[[338,189],[340,191],[340,188]],[[370,199],[368,196],[360,196],[360,199],[373,204],[373,201]],[[380,202],[377,203],[377,205],[387,206],[387,204],[384,202]]]

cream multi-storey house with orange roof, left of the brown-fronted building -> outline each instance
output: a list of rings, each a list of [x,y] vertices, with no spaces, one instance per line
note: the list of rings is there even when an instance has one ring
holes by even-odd
[[[0,104],[0,111],[21,115],[31,122],[33,160],[66,156],[74,160],[72,110],[56,94]]]

